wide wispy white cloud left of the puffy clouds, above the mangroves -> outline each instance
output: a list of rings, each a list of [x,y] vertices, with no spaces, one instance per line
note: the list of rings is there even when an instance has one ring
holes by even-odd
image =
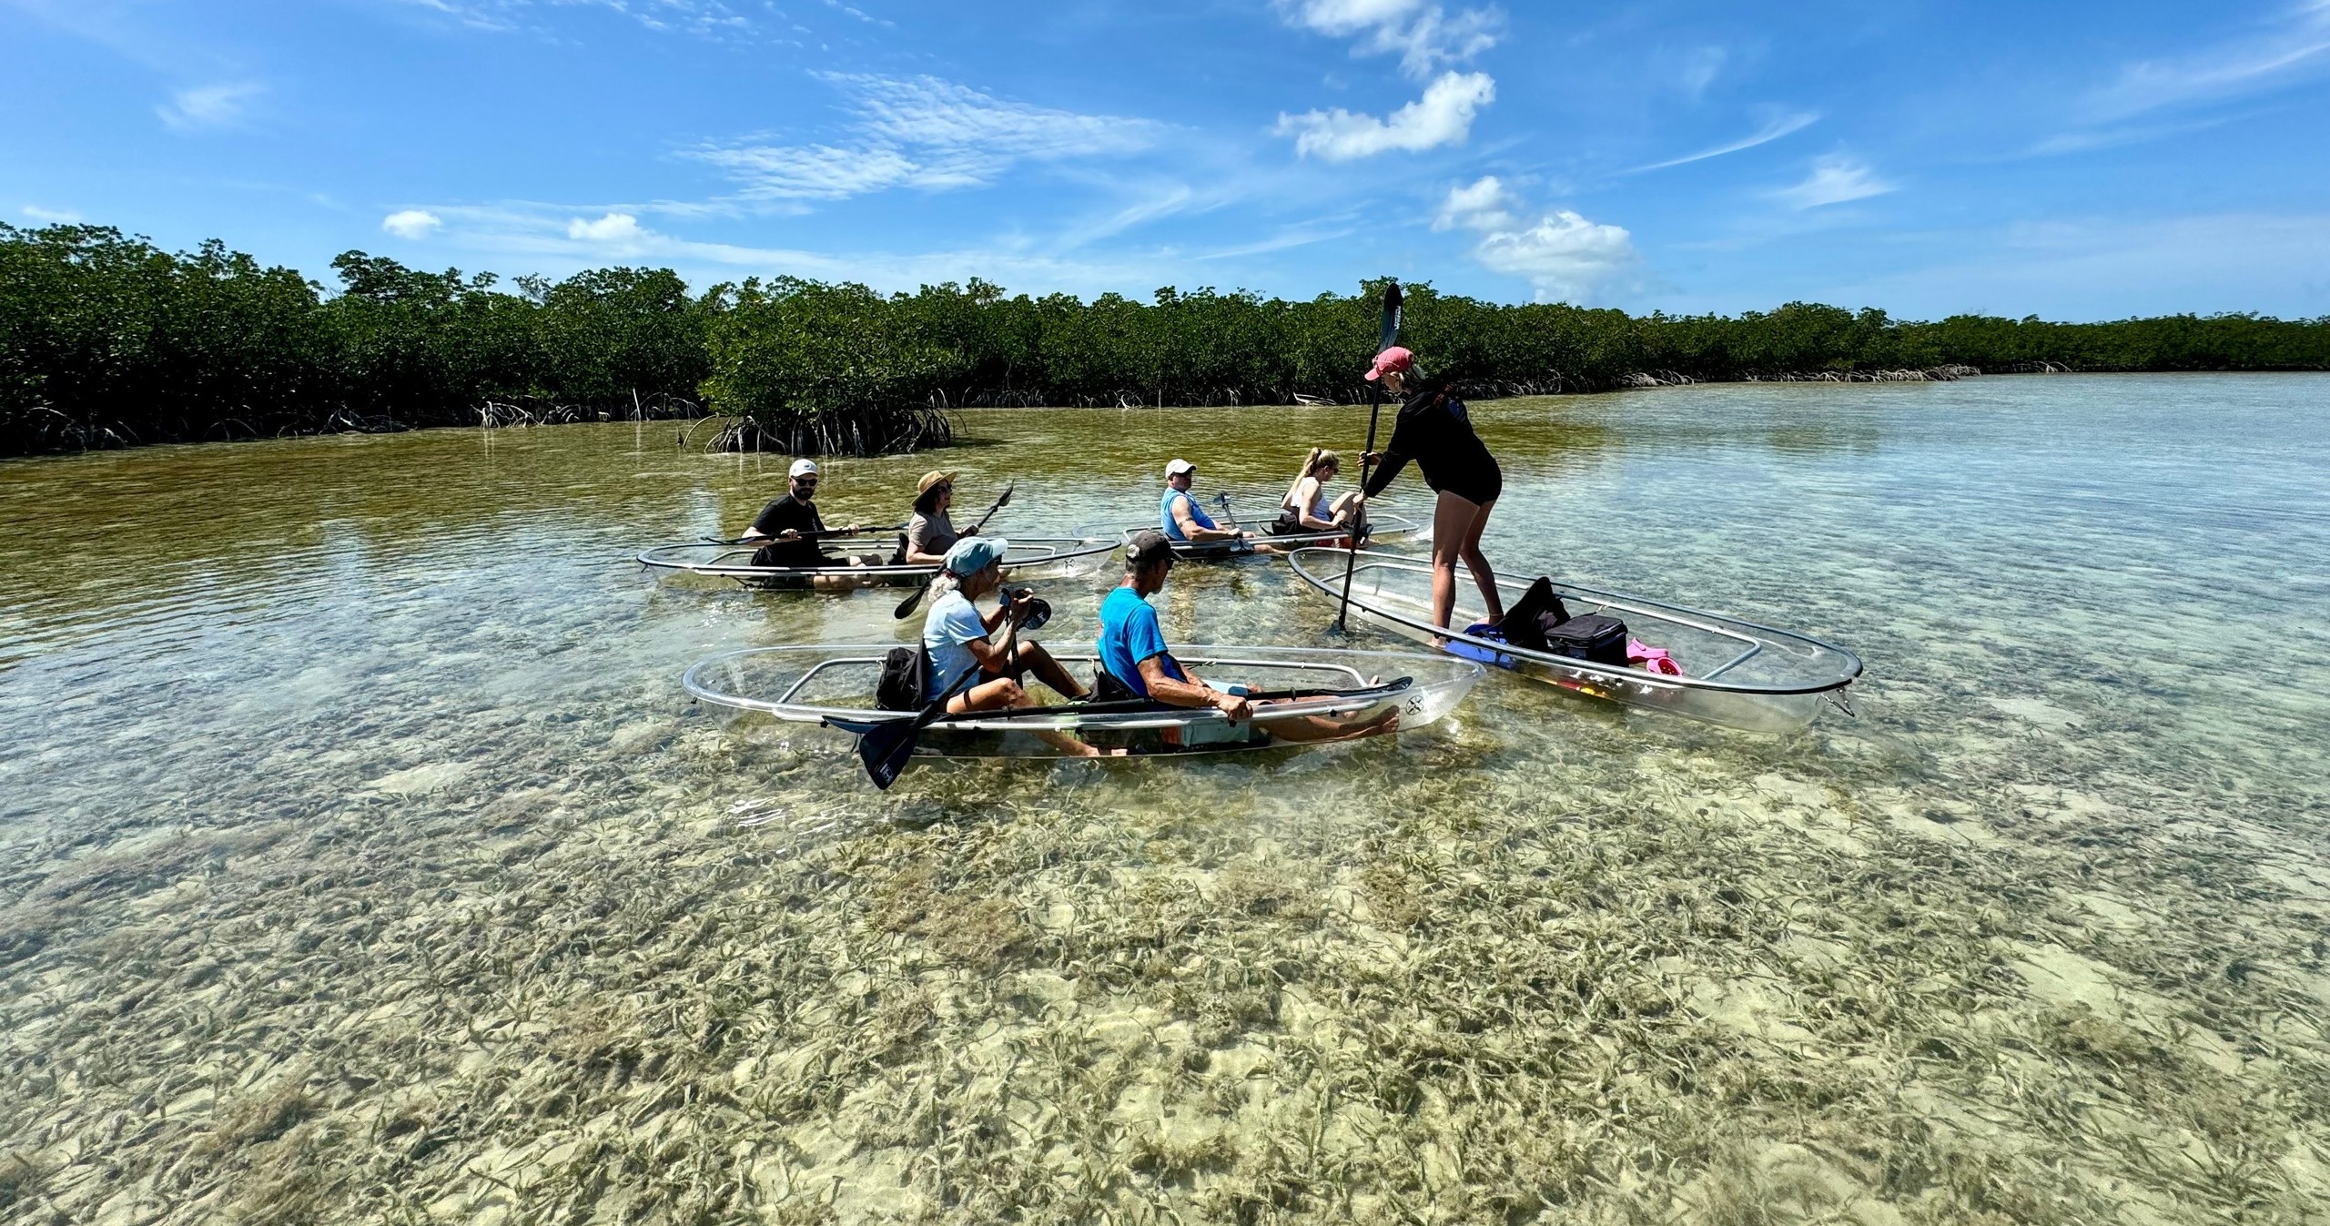
[[[860,140],[850,145],[725,145],[697,156],[746,184],[746,198],[841,200],[913,186],[983,186],[1021,161],[1146,149],[1158,124],[1007,103],[937,77],[843,77]]]

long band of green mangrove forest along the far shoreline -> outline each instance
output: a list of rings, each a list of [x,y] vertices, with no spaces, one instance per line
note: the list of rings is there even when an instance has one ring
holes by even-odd
[[[669,268],[552,282],[0,224],[0,455],[319,431],[727,415],[725,445],[869,455],[967,406],[1351,401],[1375,294],[878,294],[797,277],[692,291]],[[2325,371],[2330,319],[2099,324],[1787,303],[1629,315],[1407,287],[1403,340],[1473,394],[1890,371]]]

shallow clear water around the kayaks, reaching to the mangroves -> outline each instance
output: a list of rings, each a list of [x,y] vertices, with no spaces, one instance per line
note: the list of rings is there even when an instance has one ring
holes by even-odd
[[[734,531],[781,457],[608,424],[0,464],[0,1207],[2318,1212],[2330,380],[1475,420],[1494,562],[1843,643],[1859,718],[1759,739],[1491,676],[1396,741],[881,795],[678,674],[902,636],[899,592],[629,562]],[[944,464],[958,522],[1016,478],[997,527],[1062,529],[1153,506],[1172,455],[1275,487],[1365,431],[965,424],[829,464],[827,520]],[[1102,583],[1046,590],[1046,636]],[[1158,606],[1340,641],[1261,562]]]

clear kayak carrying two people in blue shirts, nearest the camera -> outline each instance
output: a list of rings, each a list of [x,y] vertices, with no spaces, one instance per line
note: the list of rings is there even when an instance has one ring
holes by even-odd
[[[732,716],[839,727],[913,720],[916,711],[881,711],[874,685],[878,646],[785,646],[713,655],[687,669],[680,685],[697,702]],[[1053,650],[1074,676],[1090,676],[1090,650]],[[1447,716],[1484,676],[1454,655],[1335,648],[1179,648],[1174,660],[1214,685],[1244,683],[1258,697],[1254,718],[1132,702],[1060,702],[1023,711],[946,716],[920,732],[920,758],[1065,758],[1074,737],[1130,755],[1237,753],[1340,744],[1407,732]],[[1037,688],[1037,692],[1044,692]],[[1286,695],[1286,697],[1272,697]]]

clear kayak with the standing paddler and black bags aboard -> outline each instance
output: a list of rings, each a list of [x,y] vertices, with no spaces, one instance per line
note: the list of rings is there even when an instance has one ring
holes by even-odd
[[[1480,590],[1463,564],[1456,564],[1456,632],[1431,622],[1433,569],[1419,557],[1358,550],[1295,550],[1288,557],[1295,576],[1342,599],[1344,562],[1351,559],[1351,608],[1375,622],[1421,639],[1440,639],[1442,650],[1484,664],[1552,681],[1563,690],[1668,711],[1694,720],[1741,727],[1748,732],[1794,732],[1820,713],[1824,702],[1845,704],[1843,692],[1862,676],[1862,660],[1845,648],[1808,634],[1771,629],[1722,613],[1701,613],[1645,597],[1603,592],[1577,583],[1554,583],[1570,613],[1603,613],[1626,622],[1631,639],[1664,648],[1682,669],[1680,676],[1643,667],[1596,664],[1547,650],[1528,650],[1503,639],[1463,634],[1461,627],[1482,618]],[[1512,606],[1526,580],[1498,578],[1505,604]]]

